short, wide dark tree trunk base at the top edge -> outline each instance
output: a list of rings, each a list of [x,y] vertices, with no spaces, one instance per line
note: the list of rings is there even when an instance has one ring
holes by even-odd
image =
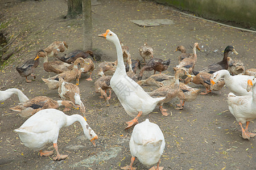
[[[82,0],[68,0],[68,14],[66,18],[76,18],[82,14]]]

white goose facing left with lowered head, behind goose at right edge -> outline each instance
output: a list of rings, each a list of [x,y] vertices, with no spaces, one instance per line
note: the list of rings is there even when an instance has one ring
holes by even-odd
[[[246,91],[248,75],[230,75],[228,70],[219,70],[210,76],[210,90],[213,89],[214,84],[224,76],[226,87],[238,96],[252,95],[251,91]]]

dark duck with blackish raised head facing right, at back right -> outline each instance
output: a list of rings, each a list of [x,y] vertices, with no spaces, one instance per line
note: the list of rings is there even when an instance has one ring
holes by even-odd
[[[226,46],[226,48],[224,50],[223,59],[220,62],[213,63],[213,64],[205,67],[201,71],[194,71],[193,70],[193,74],[197,75],[197,74],[202,73],[202,72],[213,74],[214,72],[216,72],[218,70],[228,70],[228,67],[229,67],[228,53],[229,52],[234,52],[235,54],[238,54],[236,52],[236,50],[234,49],[234,46],[228,45],[228,46]]]

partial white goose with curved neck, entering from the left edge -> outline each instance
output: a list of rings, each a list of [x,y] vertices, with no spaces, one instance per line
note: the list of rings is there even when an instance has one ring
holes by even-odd
[[[9,88],[5,91],[0,91],[0,102],[9,99],[13,94],[18,95],[20,103],[29,100],[28,97],[24,95],[23,92],[20,91],[18,88]]]

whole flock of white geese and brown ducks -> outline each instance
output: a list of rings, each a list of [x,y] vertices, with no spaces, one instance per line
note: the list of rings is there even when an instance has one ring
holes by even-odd
[[[196,100],[200,89],[189,87],[187,85],[189,82],[202,84],[205,87],[205,92],[201,92],[202,95],[212,90],[218,91],[226,85],[231,91],[228,95],[229,110],[241,126],[242,137],[250,139],[256,135],[248,131],[249,122],[256,118],[256,69],[245,70],[242,61],[228,57],[229,52],[238,54],[234,46],[228,45],[225,48],[222,61],[213,63],[200,71],[194,70],[197,61],[196,50],[200,50],[199,44],[197,42],[194,44],[192,54],[186,53],[184,46],[177,46],[175,51],[180,51],[181,54],[178,57],[178,65],[173,68],[175,75],[171,76],[162,73],[168,69],[170,59],[164,61],[154,58],[153,49],[147,45],[147,42],[139,48],[139,53],[144,60],[144,63],[141,63],[138,59],[131,59],[129,48],[119,42],[114,32],[108,29],[98,36],[113,42],[117,50],[117,61],[101,62],[97,66],[97,75],[101,77],[94,82],[95,91],[100,93],[100,98],[105,99],[106,105],[109,105],[113,90],[126,113],[134,117],[126,122],[126,129],[135,125],[129,143],[131,163],[122,169],[135,169],[132,167],[135,157],[147,167],[157,163],[157,167],[154,166],[151,169],[163,169],[159,167],[160,156],[165,146],[163,133],[158,125],[148,119],[138,124],[138,118],[151,113],[156,105],[159,105],[163,116],[168,116],[169,113],[163,108],[163,104],[175,97],[180,99],[175,109],[183,109],[185,101]],[[35,68],[39,65],[39,58],[44,58],[44,70],[56,75],[47,79],[42,78],[42,80],[46,82],[49,89],[58,89],[62,100],[55,101],[47,96],[28,99],[15,88],[0,91],[0,101],[17,94],[20,104],[10,109],[28,118],[20,128],[14,130],[18,133],[20,140],[25,146],[39,151],[41,156],[53,154],[53,151],[43,151],[47,143],[52,142],[57,153],[53,160],[65,159],[68,156],[60,155],[57,147],[59,130],[65,126],[79,121],[86,138],[94,147],[96,147],[94,140],[98,139],[96,133],[86,123],[86,108],[81,101],[78,86],[82,73],[89,73],[90,77],[86,80],[92,81],[92,71],[95,69],[92,60],[95,60],[94,54],[90,50],[86,52],[75,50],[63,57],[57,56],[59,52],[64,52],[65,48],[68,48],[65,41],[55,41],[46,49],[39,50],[34,59],[16,67],[20,76],[24,76],[27,82],[31,82],[27,76],[31,75],[32,80],[35,79]],[[48,57],[56,57],[59,60],[48,61]],[[149,61],[146,63],[147,59]],[[141,68],[141,65],[144,66]],[[137,69],[140,69],[138,74],[136,74]],[[144,71],[152,70],[154,70],[153,75],[142,79]],[[155,74],[156,71],[159,74]],[[181,83],[180,79],[183,78],[184,83]],[[73,80],[76,80],[76,84],[71,83]],[[146,92],[142,88],[143,84],[158,88]],[[63,112],[57,110],[61,105],[65,107]],[[64,113],[72,107],[80,109],[83,116],[79,114],[68,116]],[[246,128],[243,129],[242,124],[245,123]]]

